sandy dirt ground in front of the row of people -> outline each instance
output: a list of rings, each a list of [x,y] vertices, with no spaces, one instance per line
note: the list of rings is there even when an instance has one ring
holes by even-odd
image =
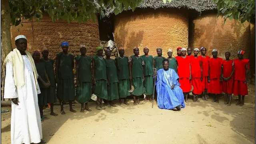
[[[42,122],[44,140],[48,144],[255,144],[255,86],[248,87],[249,95],[244,106],[224,105],[209,101],[192,102],[179,112],[161,110],[151,103],[134,106],[96,110],[95,102],[90,102],[92,112],[80,113],[80,105],[75,110],[60,106],[54,110],[59,116],[50,116],[49,108],[44,114],[49,120]],[[234,99],[237,96],[233,97]],[[2,110],[11,110],[2,107]],[[10,144],[11,112],[1,114],[1,142]]]

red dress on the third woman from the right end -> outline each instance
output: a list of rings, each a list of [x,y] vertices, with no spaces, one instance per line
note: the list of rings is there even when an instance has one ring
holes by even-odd
[[[210,58],[210,86],[208,87],[208,93],[222,94],[222,85],[220,82],[222,58]]]

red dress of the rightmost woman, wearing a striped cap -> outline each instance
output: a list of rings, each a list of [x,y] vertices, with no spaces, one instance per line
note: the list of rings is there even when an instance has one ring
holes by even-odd
[[[246,79],[246,72],[245,72],[245,65],[248,64],[249,69],[249,60],[248,59],[235,59],[234,60],[234,66],[235,66],[235,72],[234,72],[234,95],[242,95],[245,96],[248,94],[247,84],[244,84],[244,81]]]

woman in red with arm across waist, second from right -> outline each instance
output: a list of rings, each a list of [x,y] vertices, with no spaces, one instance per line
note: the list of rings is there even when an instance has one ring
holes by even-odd
[[[230,60],[230,52],[225,53],[226,60],[223,60],[222,63],[222,92],[225,93],[226,102],[224,104],[228,104],[231,106],[231,98],[233,94],[233,84],[234,84],[234,60]]]

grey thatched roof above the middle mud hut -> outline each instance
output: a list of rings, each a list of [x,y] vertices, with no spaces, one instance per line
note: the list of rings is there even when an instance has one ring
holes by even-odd
[[[196,0],[172,0],[170,3],[167,1],[165,4],[162,0],[144,0],[136,8],[186,8],[188,10],[195,10],[200,13]],[[128,10],[131,10],[129,8]],[[107,8],[105,15],[110,16],[114,13],[114,8]]]

